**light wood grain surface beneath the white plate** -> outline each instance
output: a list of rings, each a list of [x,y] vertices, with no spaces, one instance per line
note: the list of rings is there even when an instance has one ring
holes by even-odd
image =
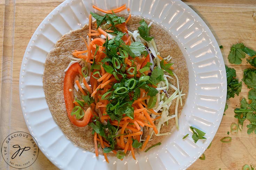
[[[29,132],[26,127],[19,99],[19,75],[23,54],[28,42],[41,21],[63,0],[0,0],[0,142],[15,131]],[[228,63],[232,44],[243,42],[256,50],[255,0],[184,0],[204,20],[214,34],[227,66],[236,69],[241,80],[243,70],[250,67],[244,59],[239,66]],[[247,56],[248,57],[248,56]],[[245,122],[242,132],[227,135],[234,118],[233,110],[247,97],[243,84],[239,96],[228,101],[229,109],[223,116],[212,145],[205,151],[205,160],[197,160],[188,170],[238,170],[245,164],[256,165],[256,135],[247,134]],[[231,136],[231,143],[220,139]],[[0,156],[0,169],[9,167]],[[32,169],[57,169],[41,152],[30,167]]]

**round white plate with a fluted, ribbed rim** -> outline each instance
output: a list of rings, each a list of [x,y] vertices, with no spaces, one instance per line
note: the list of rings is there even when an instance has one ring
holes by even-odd
[[[189,70],[189,93],[174,130],[162,145],[123,161],[74,145],[52,118],[42,88],[47,53],[60,37],[88,23],[92,4],[113,9],[124,3],[133,15],[153,20],[178,43]],[[177,0],[66,0],[39,25],[25,51],[20,73],[20,99],[30,133],[40,150],[60,169],[186,169],[208,147],[222,120],[226,101],[226,72],[219,46],[203,20],[185,3]],[[207,138],[196,144],[190,126],[203,130]],[[184,140],[182,137],[189,136]]]

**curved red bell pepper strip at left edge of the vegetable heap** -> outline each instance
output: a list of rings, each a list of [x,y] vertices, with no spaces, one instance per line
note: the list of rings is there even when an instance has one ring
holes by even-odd
[[[69,67],[69,69],[66,72],[66,75],[64,77],[64,89],[63,89],[64,100],[65,100],[68,117],[69,117],[70,121],[72,122],[72,124],[74,124],[78,127],[86,126],[92,116],[91,108],[88,108],[85,111],[83,120],[77,120],[75,115],[71,116],[72,109],[74,108],[73,83],[74,83],[75,77],[81,73],[81,69],[82,69],[82,67],[79,65],[79,63],[74,63]]]

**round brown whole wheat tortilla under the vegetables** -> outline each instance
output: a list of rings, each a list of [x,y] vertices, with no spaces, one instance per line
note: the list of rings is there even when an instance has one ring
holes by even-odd
[[[139,21],[141,17],[132,16],[127,27],[129,31],[134,31],[138,29]],[[145,20],[149,24],[149,20]],[[94,24],[92,24],[94,25]],[[70,57],[72,57],[72,52],[76,49],[79,51],[85,50],[86,46],[80,36],[86,37],[88,34],[88,25],[85,25],[81,29],[69,32],[61,37],[59,41],[55,44],[54,49],[52,49],[45,61],[45,70],[43,75],[43,88],[45,92],[45,98],[48,107],[52,113],[54,120],[57,125],[62,129],[63,133],[76,145],[95,152],[94,141],[92,135],[92,128],[90,126],[77,127],[71,123],[68,118],[67,111],[65,108],[64,95],[63,95],[63,83],[64,83],[64,70],[68,67],[70,63]],[[188,94],[188,70],[185,58],[180,51],[177,43],[172,39],[168,32],[164,31],[160,26],[153,23],[150,28],[150,36],[154,37],[157,50],[160,52],[162,57],[172,56],[171,62],[174,63],[174,73],[179,78],[180,89],[183,89],[183,93],[186,94],[182,97],[183,105],[186,102],[186,96]],[[170,80],[174,86],[177,87],[176,79]],[[75,92],[75,90],[74,90]],[[169,90],[169,94],[174,91]],[[79,93],[75,95],[81,95]],[[174,114],[176,100],[173,100],[173,104],[170,107],[169,114]],[[179,105],[178,117],[181,114],[183,107]],[[161,128],[160,133],[165,133],[171,131],[172,127],[175,125],[175,119],[169,120],[168,125]],[[143,128],[143,137],[148,134],[148,129]],[[152,146],[158,142],[161,142],[166,136],[155,136],[153,135],[152,141],[150,141],[147,147]],[[102,154],[102,150],[99,150]]]

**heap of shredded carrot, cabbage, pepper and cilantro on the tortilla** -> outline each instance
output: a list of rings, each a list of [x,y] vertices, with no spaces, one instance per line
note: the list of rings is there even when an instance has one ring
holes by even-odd
[[[175,118],[178,127],[178,105],[182,105],[181,96],[185,94],[172,72],[173,63],[167,62],[170,56],[162,58],[153,37],[149,36],[152,23],[147,25],[142,19],[138,30],[129,32],[126,23],[131,15],[127,20],[115,15],[126,9],[126,5],[108,11],[93,8],[106,14],[90,12],[87,41],[81,37],[87,50],[75,50],[74,57],[70,57],[75,62],[70,62],[64,79],[68,116],[74,125],[92,128],[96,156],[101,147],[107,162],[110,152],[123,159],[131,151],[135,159],[134,149],[144,151],[153,134],[170,134],[159,133],[164,122]],[[96,19],[94,30],[91,17]],[[177,81],[177,87],[167,78]],[[83,94],[82,99],[74,100],[73,87]],[[168,94],[169,87],[174,89],[173,94]],[[175,113],[169,115],[174,99]],[[143,127],[149,128],[145,142],[141,140]],[[195,130],[199,134],[197,138],[202,138],[202,133]]]

